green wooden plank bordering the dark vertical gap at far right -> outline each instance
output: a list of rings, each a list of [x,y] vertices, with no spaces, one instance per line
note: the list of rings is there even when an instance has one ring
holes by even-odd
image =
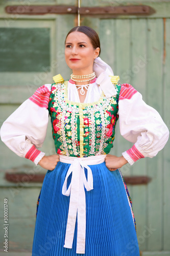
[[[163,20],[148,19],[148,102],[162,115]],[[147,113],[146,113],[147,114]],[[151,120],[152,121],[152,120]],[[148,227],[155,229],[148,238],[148,250],[162,249],[162,152],[148,159]]]

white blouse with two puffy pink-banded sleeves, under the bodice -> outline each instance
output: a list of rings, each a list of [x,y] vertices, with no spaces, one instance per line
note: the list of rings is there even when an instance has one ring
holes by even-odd
[[[68,81],[68,99],[80,102],[77,88]],[[36,165],[45,155],[41,147],[48,124],[48,101],[51,84],[39,88],[32,97],[23,102],[7,118],[1,127],[2,141],[18,156],[32,160]],[[96,82],[90,83],[84,103],[98,101],[102,89]],[[164,147],[169,131],[159,113],[147,105],[139,92],[130,84],[123,84],[119,95],[120,134],[134,143],[132,148],[122,153],[132,165],[143,157],[154,157]]]

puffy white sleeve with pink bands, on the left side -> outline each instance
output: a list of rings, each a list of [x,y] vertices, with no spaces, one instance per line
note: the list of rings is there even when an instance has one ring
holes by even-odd
[[[38,88],[1,127],[1,139],[10,150],[36,165],[45,155],[37,148],[42,146],[46,136],[50,94],[51,84]]]

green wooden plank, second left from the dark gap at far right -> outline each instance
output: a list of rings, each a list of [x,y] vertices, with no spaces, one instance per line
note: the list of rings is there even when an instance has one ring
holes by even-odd
[[[131,26],[131,67],[129,76],[132,86],[146,95],[147,79],[147,24],[146,19],[133,19]],[[141,110],[142,111],[142,110]],[[147,113],[146,113],[147,114]],[[133,113],[132,113],[133,115]],[[147,175],[145,159],[134,163],[133,175]],[[151,181],[152,182],[152,181]],[[147,186],[133,186],[133,208],[136,220],[138,244],[140,250],[146,249],[147,238],[144,236],[145,224],[147,223]]]

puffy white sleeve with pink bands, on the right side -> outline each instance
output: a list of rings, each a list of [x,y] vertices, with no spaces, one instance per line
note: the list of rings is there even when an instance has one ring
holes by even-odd
[[[121,86],[118,105],[120,134],[134,143],[122,155],[131,165],[140,158],[156,156],[169,137],[159,113],[128,83]]]

